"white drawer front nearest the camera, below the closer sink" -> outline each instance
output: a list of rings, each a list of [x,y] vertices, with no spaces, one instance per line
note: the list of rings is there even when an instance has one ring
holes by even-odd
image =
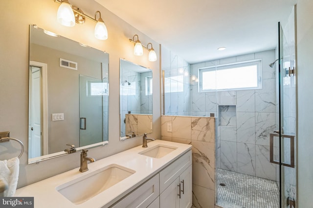
[[[111,208],[147,208],[159,195],[159,176],[156,174],[134,189]]]

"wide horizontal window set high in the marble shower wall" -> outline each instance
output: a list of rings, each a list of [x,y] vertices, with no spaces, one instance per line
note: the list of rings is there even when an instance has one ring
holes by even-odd
[[[200,92],[261,89],[261,60],[199,69]]]

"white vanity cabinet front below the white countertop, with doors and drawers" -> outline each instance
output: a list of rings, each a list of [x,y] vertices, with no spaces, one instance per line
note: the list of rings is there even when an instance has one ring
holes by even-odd
[[[190,208],[192,205],[191,164],[190,150],[110,208]]]

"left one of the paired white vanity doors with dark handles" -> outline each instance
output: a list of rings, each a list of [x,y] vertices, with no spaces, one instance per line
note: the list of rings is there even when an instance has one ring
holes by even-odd
[[[179,208],[179,178],[177,178],[160,195],[160,208]]]

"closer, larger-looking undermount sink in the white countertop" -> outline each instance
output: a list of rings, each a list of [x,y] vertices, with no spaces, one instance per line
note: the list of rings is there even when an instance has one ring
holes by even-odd
[[[134,174],[134,170],[112,164],[56,188],[74,204],[82,204],[100,192]]]

